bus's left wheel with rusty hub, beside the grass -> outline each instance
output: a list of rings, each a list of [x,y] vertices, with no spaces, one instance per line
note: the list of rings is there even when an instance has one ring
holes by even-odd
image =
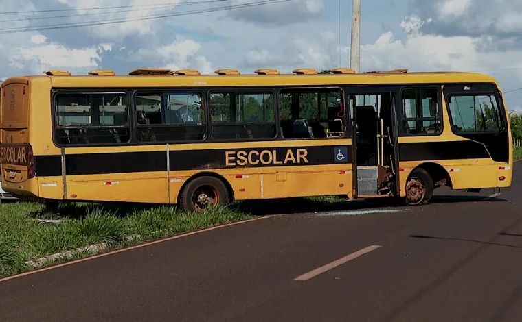
[[[201,212],[213,206],[227,206],[229,192],[222,180],[216,177],[196,177],[183,191],[179,203],[185,212]]]

